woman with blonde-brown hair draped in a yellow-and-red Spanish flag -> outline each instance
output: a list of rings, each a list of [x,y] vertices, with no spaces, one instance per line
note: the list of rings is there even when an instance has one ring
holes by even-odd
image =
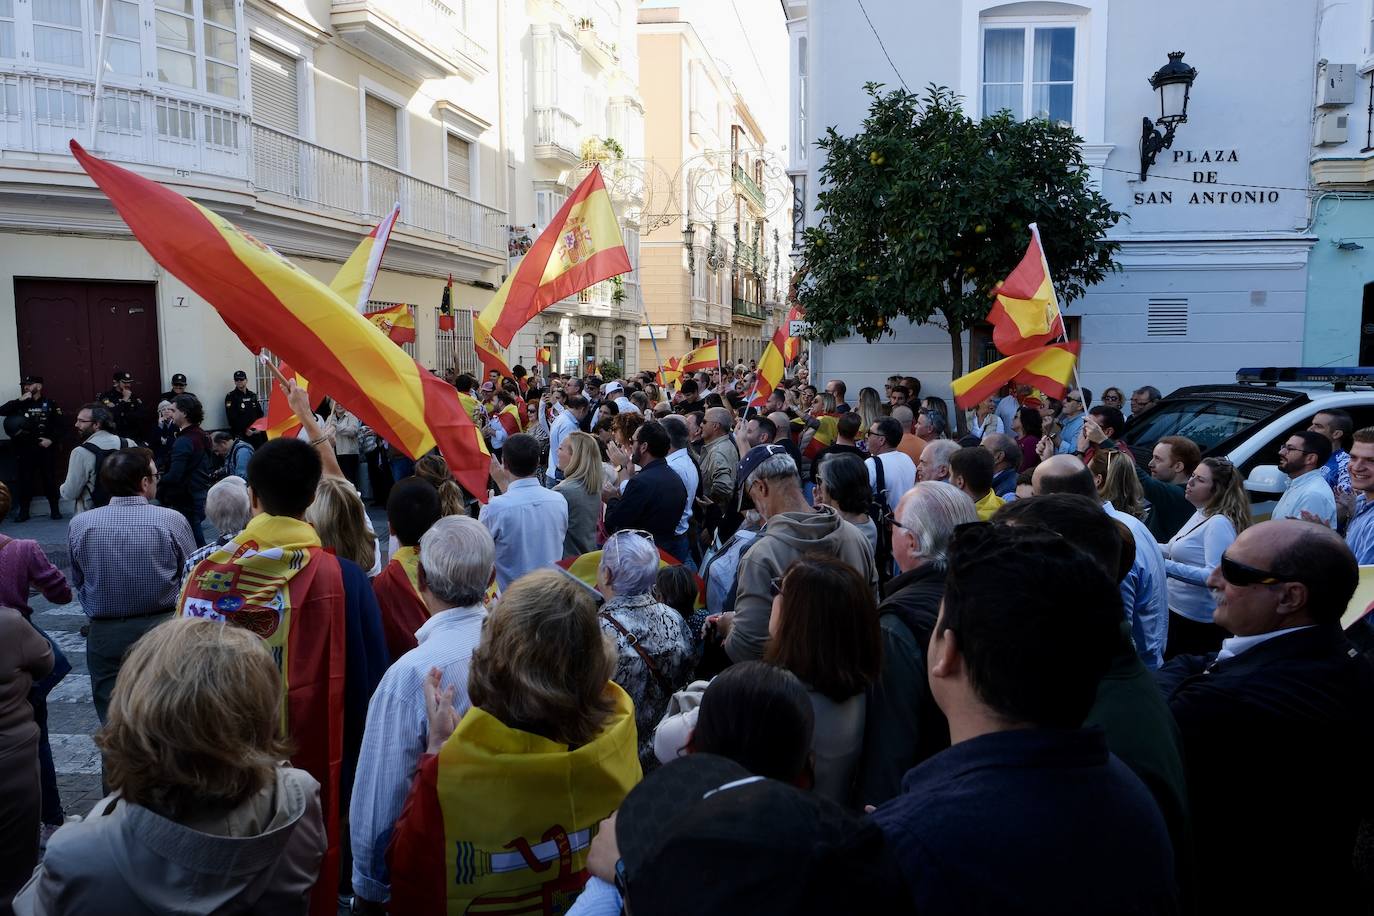
[[[423,684],[429,748],[392,835],[390,912],[572,905],[589,835],[640,777],[635,709],[613,672],[585,585],[537,570],[506,589],[473,652],[471,709],[459,720],[437,670]]]

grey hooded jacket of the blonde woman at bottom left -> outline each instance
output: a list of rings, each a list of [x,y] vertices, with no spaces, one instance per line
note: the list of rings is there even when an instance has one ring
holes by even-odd
[[[47,916],[305,913],[324,857],[320,786],[280,766],[276,781],[214,818],[216,832],[118,795],[48,840],[14,911]],[[223,832],[221,832],[223,831]]]

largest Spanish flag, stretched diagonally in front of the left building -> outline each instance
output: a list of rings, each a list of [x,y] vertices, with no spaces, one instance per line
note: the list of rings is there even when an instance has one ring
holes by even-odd
[[[71,154],[148,254],[209,302],[245,346],[269,349],[411,457],[436,445],[485,501],[491,456],[458,393],[353,304],[224,217],[73,140]]]

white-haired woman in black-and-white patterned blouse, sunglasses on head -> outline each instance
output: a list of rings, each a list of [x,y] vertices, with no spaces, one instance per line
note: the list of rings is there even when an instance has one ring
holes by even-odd
[[[646,770],[658,765],[654,726],[695,662],[682,614],[654,595],[657,580],[658,548],[649,531],[621,530],[606,538],[596,570],[596,591],[606,603],[598,617],[602,632],[616,641],[611,680],[635,700],[639,761]]]

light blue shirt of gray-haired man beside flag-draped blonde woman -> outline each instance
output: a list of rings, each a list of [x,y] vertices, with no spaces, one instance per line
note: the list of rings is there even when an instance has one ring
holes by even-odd
[[[467,670],[484,619],[486,608],[474,604],[440,611],[425,621],[415,632],[419,645],[386,669],[367,705],[367,729],[349,805],[353,890],[367,900],[392,898],[386,847],[429,743],[425,677],[431,667],[444,673],[441,685],[455,688],[453,706],[462,717],[471,707]]]

